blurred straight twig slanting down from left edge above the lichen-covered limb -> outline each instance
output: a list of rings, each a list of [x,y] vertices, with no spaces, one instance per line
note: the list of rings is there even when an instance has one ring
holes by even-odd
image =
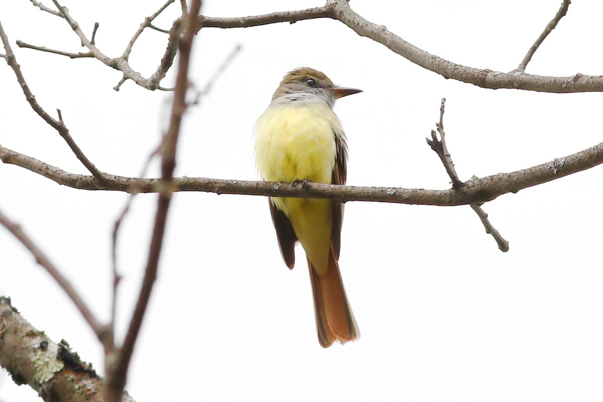
[[[58,283],[58,286],[60,286],[68,297],[71,298],[75,307],[80,310],[81,315],[88,325],[90,325],[90,328],[92,328],[92,331],[94,331],[98,339],[105,344],[107,334],[106,327],[96,319],[92,311],[86,306],[84,300],[78,295],[77,291],[75,291],[75,288],[69,283],[67,278],[63,277],[60,271],[58,271],[42,250],[36,246],[33,240],[25,234],[21,227],[11,222],[2,212],[0,212],[0,224],[7,228],[8,231],[10,231],[10,233],[12,233],[13,236],[30,251],[31,255],[36,259],[36,262],[46,269],[46,272],[48,272],[48,274],[50,274],[50,276]]]

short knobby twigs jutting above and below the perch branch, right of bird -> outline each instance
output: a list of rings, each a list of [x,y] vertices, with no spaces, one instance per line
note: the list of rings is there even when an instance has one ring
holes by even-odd
[[[448,148],[446,147],[446,133],[444,133],[444,104],[446,103],[446,98],[443,98],[440,104],[440,122],[436,123],[436,127],[438,128],[438,133],[440,134],[440,139],[438,140],[437,134],[434,130],[431,130],[431,140],[426,139],[431,149],[438,154],[446,172],[448,173],[450,180],[452,180],[452,189],[454,191],[461,190],[465,183],[458,178],[458,174],[456,174],[456,169],[454,167],[454,163],[452,163],[452,157],[450,156],[450,152],[448,152]],[[509,251],[509,242],[505,240],[502,236],[500,236],[499,231],[497,231],[490,221],[488,221],[488,214],[484,212],[480,204],[471,203],[470,206],[472,209],[478,214],[479,220],[484,225],[486,233],[491,234],[496,240],[498,248],[503,253]]]

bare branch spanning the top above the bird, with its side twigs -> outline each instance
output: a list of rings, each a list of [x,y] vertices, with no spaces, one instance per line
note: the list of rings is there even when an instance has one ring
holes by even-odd
[[[81,32],[77,22],[75,22],[71,16],[69,16],[66,8],[59,5],[57,0],[52,1],[57,6],[58,10],[60,10],[60,15],[69,22],[69,25],[71,25],[75,33],[78,35],[78,37],[80,37],[83,45],[89,49],[93,57],[102,61],[107,66],[117,69],[123,73],[123,80],[120,81],[120,84],[115,86],[114,89],[119,90],[121,83],[125,80],[133,80],[139,86],[150,90],[162,89],[159,86],[159,81],[165,77],[166,72],[174,60],[176,49],[175,42],[177,36],[180,34],[180,20],[182,20],[183,16],[185,15],[185,10],[183,10],[183,14],[180,19],[174,22],[172,29],[169,31],[170,36],[168,39],[168,46],[166,47],[166,52],[162,58],[159,68],[157,68],[157,71],[147,79],[142,77],[139,72],[136,72],[130,68],[130,65],[127,61],[127,56],[131,50],[131,45],[133,45],[133,42],[136,40],[137,36],[139,36],[145,27],[151,27],[150,20],[147,23],[147,19],[145,19],[145,22],[140,25],[139,30],[136,31],[136,34],[134,34],[134,37],[130,41],[131,45],[128,45],[128,48],[122,57],[109,58],[101,53],[92,42],[86,39],[86,36]],[[417,46],[414,46],[411,43],[406,42],[401,37],[391,33],[391,31],[389,31],[384,25],[373,24],[372,22],[364,19],[362,16],[355,13],[352,8],[350,8],[347,0],[327,0],[324,7],[308,8],[306,10],[297,11],[282,11],[259,16],[229,18],[199,16],[196,22],[196,29],[198,31],[204,27],[247,28],[256,27],[259,25],[276,24],[278,22],[289,22],[290,24],[294,24],[300,20],[331,18],[343,22],[343,24],[347,25],[347,27],[355,31],[359,36],[373,39],[374,41],[386,46],[391,51],[396,52],[402,57],[405,57],[409,61],[412,61],[412,63],[440,74],[444,78],[452,78],[453,80],[458,80],[464,83],[470,83],[479,87],[490,89],[507,88],[551,93],[601,92],[603,91],[603,76],[601,75],[582,75],[578,73],[568,77],[547,77],[544,75],[526,74],[524,71],[525,66],[528,64],[538,46],[540,46],[540,43],[557,25],[557,22],[561,19],[561,17],[565,15],[569,2],[569,0],[564,0],[560,11],[557,13],[557,16],[555,16],[555,19],[552,20],[549,25],[547,25],[547,28],[534,43],[520,64],[519,68],[510,72],[492,71],[490,69],[478,69],[463,66],[462,64],[456,64],[452,61],[444,60],[437,55],[430,54],[429,52],[417,48]],[[166,3],[162,9],[157,11],[157,13],[163,11],[163,8],[165,8],[167,4],[168,3]],[[180,4],[181,7],[184,8],[186,2],[181,0]],[[36,2],[34,2],[34,5],[36,5]],[[149,18],[152,18],[152,16]],[[38,50],[42,50],[42,48],[39,48]],[[62,54],[59,51],[54,51],[54,53]],[[69,55],[67,52],[64,53]]]

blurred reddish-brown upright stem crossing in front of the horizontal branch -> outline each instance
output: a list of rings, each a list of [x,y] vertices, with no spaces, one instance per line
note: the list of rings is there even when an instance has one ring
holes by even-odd
[[[187,16],[188,26],[192,26],[192,24],[194,24],[200,8],[201,0],[193,0],[191,10]],[[172,183],[174,180],[175,154],[178,135],[180,134],[180,124],[182,122],[182,116],[186,110],[186,91],[189,87],[188,70],[191,60],[193,39],[194,30],[187,30],[178,45],[180,61],[178,63],[178,74],[176,77],[171,119],[169,122],[168,131],[163,137],[160,148],[162,150],[162,175],[160,181],[162,184],[162,190],[159,192],[159,199],[157,200],[157,212],[155,216],[155,224],[153,226],[153,234],[151,236],[147,268],[145,269],[145,275],[142,280],[139,297],[136,302],[136,306],[134,307],[134,312],[132,314],[130,325],[124,339],[124,344],[119,351],[118,360],[115,362],[115,365],[112,367],[109,373],[110,375],[107,381],[108,387],[106,390],[107,400],[109,401],[113,399],[116,400],[123,392],[128,366],[130,365],[131,356],[134,351],[134,344],[136,344],[140,326],[142,325],[142,319],[145,316],[148,301],[151,297],[151,291],[153,290],[153,285],[157,278],[159,257],[163,244],[163,234],[165,233],[165,225],[168,217],[172,192],[175,188]]]

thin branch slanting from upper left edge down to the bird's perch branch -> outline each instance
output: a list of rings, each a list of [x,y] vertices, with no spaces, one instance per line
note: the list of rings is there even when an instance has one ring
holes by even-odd
[[[104,178],[103,174],[96,169],[96,166],[84,155],[84,152],[81,151],[80,147],[77,146],[75,141],[72,139],[71,134],[69,134],[69,130],[67,126],[63,123],[63,118],[60,116],[60,110],[57,109],[59,115],[59,121],[57,122],[53,119],[46,111],[38,104],[36,101],[36,97],[31,92],[30,87],[25,82],[25,77],[21,72],[21,66],[17,63],[17,59],[14,56],[13,49],[10,47],[10,42],[8,42],[8,37],[4,32],[4,28],[2,28],[2,24],[0,24],[0,39],[2,40],[2,44],[4,45],[4,49],[7,54],[6,62],[13,69],[14,75],[17,77],[17,81],[21,86],[21,90],[25,95],[25,99],[31,105],[34,111],[36,111],[37,115],[40,116],[46,123],[51,125],[52,128],[58,131],[61,137],[65,140],[65,142],[69,145],[69,148],[74,152],[77,159],[86,166],[86,169],[98,180],[99,183],[103,183]]]

